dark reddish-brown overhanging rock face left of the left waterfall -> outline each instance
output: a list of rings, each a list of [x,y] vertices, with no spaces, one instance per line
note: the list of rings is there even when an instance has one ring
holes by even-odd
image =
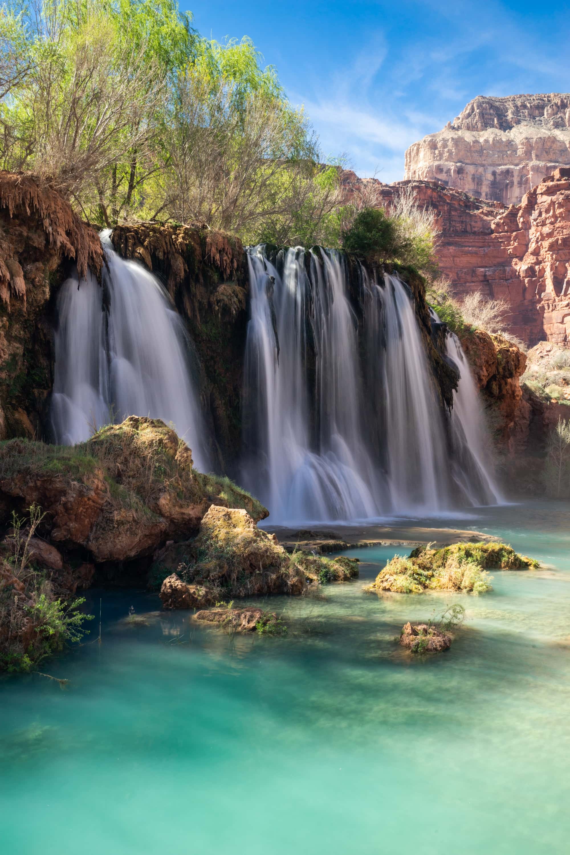
[[[30,175],[0,171],[0,439],[49,433],[50,298],[70,265],[97,274],[97,232]]]

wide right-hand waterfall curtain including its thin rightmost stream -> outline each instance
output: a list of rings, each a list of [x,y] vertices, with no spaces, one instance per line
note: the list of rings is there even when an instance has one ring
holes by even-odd
[[[464,424],[477,409],[476,396],[467,405],[467,363],[454,359],[450,443],[401,280],[379,283],[361,267],[357,315],[336,251],[297,247],[271,262],[258,246],[249,265],[244,481],[273,521],[428,515],[457,498],[497,500],[475,428]]]

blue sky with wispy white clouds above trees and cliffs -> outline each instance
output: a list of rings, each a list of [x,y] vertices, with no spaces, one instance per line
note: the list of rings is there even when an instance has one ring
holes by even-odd
[[[403,178],[410,143],[476,95],[570,91],[570,2],[181,2],[204,36],[250,36],[325,156]]]

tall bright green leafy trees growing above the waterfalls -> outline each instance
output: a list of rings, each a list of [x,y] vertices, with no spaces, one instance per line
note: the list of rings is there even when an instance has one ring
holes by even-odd
[[[249,38],[201,38],[177,0],[9,0],[0,51],[0,162],[97,225],[161,216],[278,243],[331,227],[337,171]]]

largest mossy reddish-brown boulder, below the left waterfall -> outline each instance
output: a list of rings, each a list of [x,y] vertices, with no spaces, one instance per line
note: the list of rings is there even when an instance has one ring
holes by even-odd
[[[195,536],[212,504],[267,510],[229,479],[202,475],[191,450],[158,419],[130,416],[71,447],[0,443],[0,520],[32,504],[45,538],[95,563],[152,555],[168,539]]]

